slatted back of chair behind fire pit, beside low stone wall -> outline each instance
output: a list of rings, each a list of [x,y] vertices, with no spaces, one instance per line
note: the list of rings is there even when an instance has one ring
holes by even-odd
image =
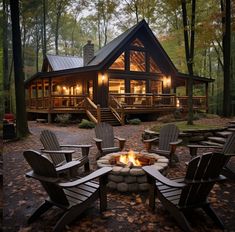
[[[159,133],[159,149],[170,151],[170,142],[177,141],[179,129],[174,124],[168,124],[160,129]]]

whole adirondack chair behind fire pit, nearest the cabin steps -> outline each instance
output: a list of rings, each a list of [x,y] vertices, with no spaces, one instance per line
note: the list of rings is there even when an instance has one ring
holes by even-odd
[[[95,135],[94,141],[96,143],[97,149],[99,151],[100,156],[122,151],[125,145],[126,140],[123,138],[119,138],[114,136],[113,127],[105,122],[98,123],[95,127]],[[114,140],[118,140],[119,146],[115,146]]]

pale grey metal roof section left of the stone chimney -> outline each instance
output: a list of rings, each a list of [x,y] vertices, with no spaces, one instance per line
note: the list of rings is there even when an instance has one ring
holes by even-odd
[[[53,71],[83,67],[83,58],[78,56],[46,55]]]

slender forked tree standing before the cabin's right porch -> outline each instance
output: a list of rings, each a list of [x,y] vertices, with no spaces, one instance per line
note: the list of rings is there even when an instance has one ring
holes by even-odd
[[[188,125],[193,125],[193,58],[194,58],[194,35],[195,35],[195,10],[196,0],[192,0],[192,15],[191,15],[191,27],[188,26],[188,15],[186,8],[186,0],[181,0],[182,4],[182,18],[184,25],[184,44],[185,55],[188,67],[188,73],[190,75],[187,81],[188,89]],[[190,33],[190,34],[189,34]],[[190,43],[189,43],[190,38]]]

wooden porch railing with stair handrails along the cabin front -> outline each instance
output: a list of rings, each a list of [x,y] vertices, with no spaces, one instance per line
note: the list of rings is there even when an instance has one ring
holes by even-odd
[[[110,94],[108,107],[117,120],[124,124],[128,114],[150,114],[173,112],[176,109],[187,111],[188,97],[174,94]],[[205,96],[193,98],[194,110],[207,111]],[[87,114],[95,123],[101,121],[102,110],[87,96],[52,96],[27,101],[27,112],[38,114]]]

